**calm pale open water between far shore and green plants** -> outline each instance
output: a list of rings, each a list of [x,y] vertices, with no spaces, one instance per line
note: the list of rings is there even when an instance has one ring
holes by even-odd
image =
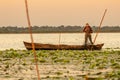
[[[58,33],[33,34],[34,42],[37,43],[59,43]],[[94,39],[95,34],[92,34]],[[0,50],[25,49],[23,41],[30,42],[29,34],[0,34]],[[103,48],[120,48],[120,33],[100,33],[95,44],[104,43]],[[84,33],[62,33],[61,44],[84,44]]]

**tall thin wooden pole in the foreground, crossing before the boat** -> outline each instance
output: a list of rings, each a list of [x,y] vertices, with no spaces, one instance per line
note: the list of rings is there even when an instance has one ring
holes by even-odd
[[[25,0],[25,7],[26,7],[26,15],[27,15],[29,33],[30,33],[30,38],[31,38],[31,42],[32,42],[32,49],[33,49],[33,53],[34,53],[34,60],[35,60],[35,65],[36,65],[37,76],[38,76],[38,80],[40,80],[40,73],[39,73],[38,64],[37,64],[37,56],[36,56],[36,51],[35,51],[34,39],[32,36],[32,28],[31,28],[31,22],[30,22],[30,17],[29,17],[27,0]]]

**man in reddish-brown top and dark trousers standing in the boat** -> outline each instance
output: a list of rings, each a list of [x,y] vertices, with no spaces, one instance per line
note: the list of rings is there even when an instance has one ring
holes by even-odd
[[[93,30],[88,23],[86,23],[86,25],[83,29],[83,32],[85,32],[85,46],[87,45],[88,39],[89,39],[90,43],[93,44],[92,37],[91,37],[91,33],[93,33]]]

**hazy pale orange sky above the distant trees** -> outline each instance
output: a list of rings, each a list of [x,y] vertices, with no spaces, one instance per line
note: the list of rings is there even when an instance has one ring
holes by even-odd
[[[32,25],[120,25],[120,0],[28,0]],[[26,26],[24,0],[0,0],[0,26]]]

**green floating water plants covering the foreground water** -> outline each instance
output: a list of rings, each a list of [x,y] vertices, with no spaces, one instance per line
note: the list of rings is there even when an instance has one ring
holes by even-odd
[[[36,53],[41,80],[120,79],[120,50],[41,50]],[[36,79],[32,51],[0,51],[0,80]]]

